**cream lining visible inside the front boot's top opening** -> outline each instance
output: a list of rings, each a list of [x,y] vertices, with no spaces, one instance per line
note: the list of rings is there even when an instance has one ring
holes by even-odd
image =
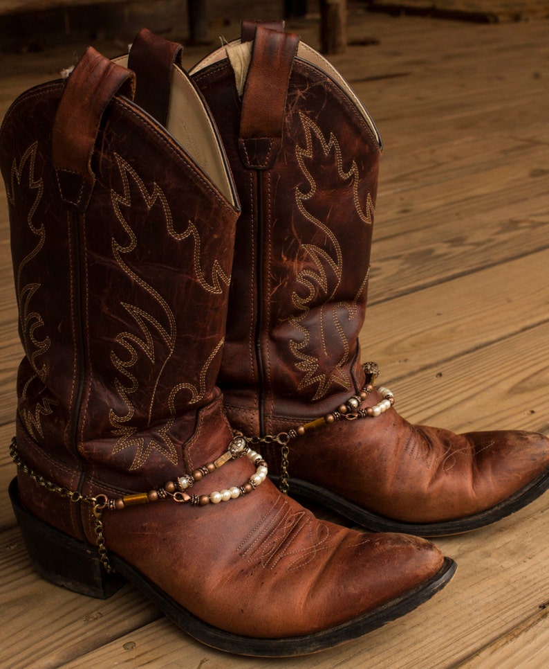
[[[127,67],[128,57],[121,56],[114,62]],[[171,72],[166,130],[225,198],[236,204],[217,133],[194,85],[177,65]]]

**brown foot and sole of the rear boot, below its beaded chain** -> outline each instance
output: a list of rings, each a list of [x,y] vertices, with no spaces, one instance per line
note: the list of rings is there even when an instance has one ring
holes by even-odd
[[[365,404],[380,400],[371,395]],[[270,453],[279,472],[281,456]],[[290,490],[357,523],[435,537],[492,524],[543,494],[549,439],[525,431],[454,434],[411,425],[391,408],[300,436],[288,469]]]

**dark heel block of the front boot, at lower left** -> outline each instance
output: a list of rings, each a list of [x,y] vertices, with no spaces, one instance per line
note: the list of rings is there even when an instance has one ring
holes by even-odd
[[[98,599],[107,599],[126,580],[107,573],[94,546],[69,537],[41,521],[19,501],[17,479],[9,487],[12,508],[32,567],[48,581]]]

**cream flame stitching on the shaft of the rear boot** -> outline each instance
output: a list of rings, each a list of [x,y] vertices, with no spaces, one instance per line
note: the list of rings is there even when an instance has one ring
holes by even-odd
[[[369,268],[366,271],[364,280],[362,281],[362,284],[360,285],[360,288],[353,301],[338,301],[331,303],[331,300],[333,300],[333,297],[337,292],[337,288],[339,287],[342,279],[343,254],[333,231],[331,231],[331,229],[329,229],[326,224],[315,217],[313,213],[308,211],[306,207],[306,202],[314,197],[317,190],[315,178],[310,173],[305,164],[305,159],[314,159],[313,134],[320,143],[325,157],[328,157],[330,152],[333,152],[335,157],[335,166],[337,168],[337,174],[339,175],[339,178],[342,179],[342,181],[346,181],[352,184],[353,201],[355,203],[356,213],[360,220],[362,220],[362,222],[367,225],[371,225],[373,223],[374,205],[369,193],[366,199],[365,210],[362,209],[358,195],[359,173],[357,164],[353,160],[351,163],[351,168],[348,171],[344,170],[342,151],[334,134],[331,132],[330,139],[326,141],[322,131],[316,125],[316,123],[314,123],[314,121],[311,121],[310,118],[307,118],[307,116],[305,116],[305,114],[302,112],[299,112],[299,117],[304,127],[306,146],[305,148],[297,146],[296,157],[297,162],[299,163],[299,167],[306,177],[310,188],[307,193],[303,193],[299,188],[297,188],[296,204],[297,208],[306,217],[306,219],[312,222],[317,227],[317,229],[326,235],[326,238],[328,238],[328,241],[333,247],[334,257],[331,256],[330,253],[328,253],[328,251],[325,249],[321,249],[314,244],[303,244],[304,249],[306,249],[310,255],[310,258],[313,260],[315,269],[302,269],[297,275],[297,283],[306,288],[306,294],[305,296],[299,296],[297,292],[292,294],[292,303],[301,313],[298,316],[292,316],[290,318],[290,322],[297,330],[299,330],[299,332],[301,332],[303,339],[301,339],[301,341],[296,341],[295,339],[290,340],[290,350],[297,359],[296,367],[299,369],[299,371],[305,373],[305,376],[301,382],[299,382],[298,389],[301,390],[313,384],[317,384],[317,390],[313,396],[313,400],[320,400],[328,394],[332,384],[337,384],[346,390],[351,388],[351,379],[348,376],[348,373],[346,373],[344,370],[344,366],[348,363],[350,346],[346,338],[344,328],[342,327],[342,324],[340,323],[337,316],[337,310],[339,307],[345,307],[348,310],[349,319],[352,320],[355,318],[357,301],[362,295],[362,292],[364,292],[364,289],[368,283]],[[335,276],[335,282],[333,282],[332,285],[329,285],[330,281],[328,280],[328,271],[331,271],[331,273],[333,273]],[[326,338],[324,333],[325,309],[331,310],[332,312],[333,325],[342,346],[339,360],[335,363],[334,366],[329,366],[329,369],[324,368],[324,371],[322,364],[320,364],[319,357],[307,353],[311,337],[310,331],[306,328],[303,322],[310,312],[309,305],[317,294],[317,288],[321,289],[322,292],[326,295],[325,303],[319,308],[317,323],[320,331],[320,337],[322,339],[322,349],[324,354],[328,355],[328,346],[326,345]]]

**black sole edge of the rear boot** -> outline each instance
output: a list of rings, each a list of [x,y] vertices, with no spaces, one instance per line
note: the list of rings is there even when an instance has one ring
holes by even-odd
[[[270,478],[278,485],[278,476],[271,476]],[[436,523],[407,523],[387,518],[373,511],[366,510],[335,492],[321,488],[319,485],[309,483],[303,479],[290,478],[289,484],[290,496],[295,495],[303,499],[310,499],[310,501],[321,504],[353,521],[353,523],[362,525],[373,532],[400,532],[418,537],[433,538],[478,530],[519,511],[534,501],[534,499],[541,497],[549,489],[549,472],[541,474],[537,479],[525,485],[524,488],[518,490],[508,499],[496,504],[496,506],[492,506],[472,516]]]

